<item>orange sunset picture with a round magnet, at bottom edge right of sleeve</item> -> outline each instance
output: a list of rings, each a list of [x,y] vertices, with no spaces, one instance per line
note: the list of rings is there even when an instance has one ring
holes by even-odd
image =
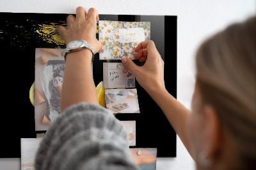
[[[156,170],[157,148],[131,148],[130,150],[140,170]]]

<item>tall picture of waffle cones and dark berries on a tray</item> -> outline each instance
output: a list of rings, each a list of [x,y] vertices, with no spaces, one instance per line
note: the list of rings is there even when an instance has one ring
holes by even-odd
[[[35,130],[48,130],[61,112],[65,49],[35,49]]]

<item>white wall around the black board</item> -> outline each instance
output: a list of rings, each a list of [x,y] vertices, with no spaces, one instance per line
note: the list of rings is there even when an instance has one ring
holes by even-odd
[[[77,6],[83,6],[86,11],[93,7],[101,14],[177,15],[177,98],[189,109],[195,83],[196,47],[212,33],[256,13],[255,0],[12,0],[1,2],[0,12],[76,13]],[[168,55],[165,54],[165,57]],[[2,168],[20,169],[20,159],[0,159],[0,169]],[[158,158],[157,169],[195,169],[194,162],[179,137],[177,137],[177,158]]]

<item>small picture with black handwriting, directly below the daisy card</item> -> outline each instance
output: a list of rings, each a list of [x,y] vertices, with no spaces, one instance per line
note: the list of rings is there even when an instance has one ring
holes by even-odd
[[[135,77],[122,63],[103,63],[104,89],[135,88]]]

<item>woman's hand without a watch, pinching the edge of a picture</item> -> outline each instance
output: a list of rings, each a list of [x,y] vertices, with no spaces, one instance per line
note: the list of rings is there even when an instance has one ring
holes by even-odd
[[[156,49],[155,43],[150,40],[141,42],[136,47],[134,56],[141,62],[146,61],[143,66],[137,66],[131,59],[123,58],[122,64],[128,68],[136,77],[140,85],[151,93],[159,88],[164,88],[164,61]]]

